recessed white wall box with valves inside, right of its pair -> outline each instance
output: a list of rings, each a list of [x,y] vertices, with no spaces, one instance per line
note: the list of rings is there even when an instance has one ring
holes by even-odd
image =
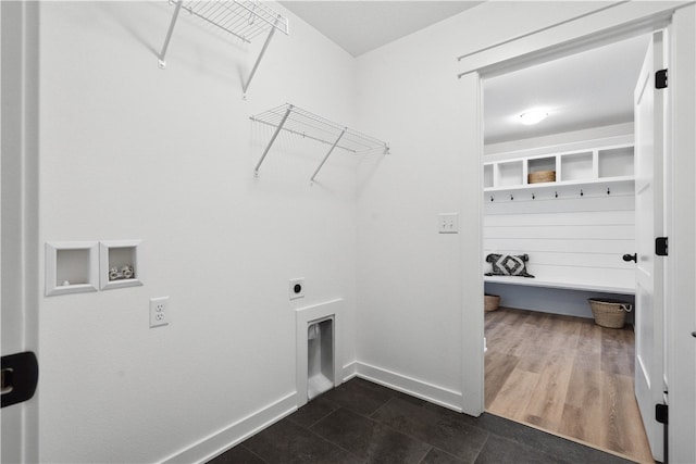
[[[142,285],[138,264],[140,240],[112,240],[99,243],[99,279],[102,290]]]

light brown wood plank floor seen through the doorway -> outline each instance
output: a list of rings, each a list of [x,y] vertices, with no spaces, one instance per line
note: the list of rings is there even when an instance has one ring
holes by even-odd
[[[635,401],[631,328],[505,308],[485,319],[486,411],[654,462]]]

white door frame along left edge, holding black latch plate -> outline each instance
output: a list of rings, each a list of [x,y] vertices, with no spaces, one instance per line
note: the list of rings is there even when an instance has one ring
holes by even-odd
[[[0,2],[3,355],[38,348],[38,9]],[[38,462],[38,394],[0,410],[0,418],[2,462]]]

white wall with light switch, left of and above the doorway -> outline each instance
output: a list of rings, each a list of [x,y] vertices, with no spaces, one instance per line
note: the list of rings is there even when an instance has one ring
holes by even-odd
[[[358,59],[360,121],[393,153],[359,170],[359,373],[483,411],[483,391],[462,396],[483,375],[480,93],[456,58],[595,8],[486,2]],[[445,212],[459,235],[437,234]]]

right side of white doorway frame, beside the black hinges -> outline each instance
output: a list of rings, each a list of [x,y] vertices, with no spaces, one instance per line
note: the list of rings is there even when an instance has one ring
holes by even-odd
[[[696,5],[680,10],[670,29],[670,113],[667,115],[666,263],[668,460],[696,462]],[[679,115],[679,117],[675,117]]]

